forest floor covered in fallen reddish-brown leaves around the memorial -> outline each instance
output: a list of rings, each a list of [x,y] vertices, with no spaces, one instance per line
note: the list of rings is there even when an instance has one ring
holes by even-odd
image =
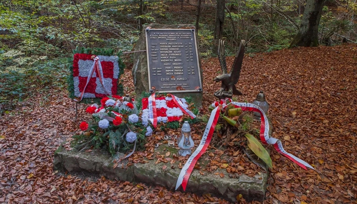
[[[264,203],[355,203],[357,199],[357,46],[295,48],[245,56],[236,85],[253,101],[264,90],[272,136],[314,166],[304,170],[271,148]],[[232,64],[233,58],[227,59]],[[214,100],[217,59],[202,60],[204,108]],[[133,91],[131,70],[123,76]],[[66,90],[34,95],[0,121],[0,203],[226,203],[210,195],[54,171],[56,149],[78,130],[85,105]],[[69,146],[67,146],[69,148]],[[244,202],[244,200],[242,201]]]

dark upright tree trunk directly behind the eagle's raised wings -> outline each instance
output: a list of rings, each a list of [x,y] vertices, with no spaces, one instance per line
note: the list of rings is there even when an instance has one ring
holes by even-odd
[[[216,24],[215,24],[215,33],[214,33],[214,47],[213,53],[217,54],[218,52],[218,41],[222,38],[222,30],[224,24],[225,16],[225,0],[217,0],[217,9],[216,9]]]

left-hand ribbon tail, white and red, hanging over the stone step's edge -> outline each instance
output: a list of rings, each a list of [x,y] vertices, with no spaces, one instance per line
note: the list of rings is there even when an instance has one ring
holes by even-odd
[[[192,153],[190,158],[188,158],[186,164],[181,169],[180,175],[178,176],[176,182],[176,190],[178,189],[178,187],[180,187],[180,185],[182,185],[183,190],[186,190],[187,181],[188,178],[190,178],[193,167],[195,167],[196,162],[202,156],[202,154],[205,153],[208,145],[211,142],[211,138],[213,132],[215,131],[218,118],[220,117],[221,108],[222,106],[217,106],[215,109],[212,110],[210,119],[208,119],[208,123],[206,125],[206,129],[203,133],[200,144],[198,145],[197,149]]]

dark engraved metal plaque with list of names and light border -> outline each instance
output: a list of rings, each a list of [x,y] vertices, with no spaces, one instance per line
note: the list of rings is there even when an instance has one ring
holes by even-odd
[[[149,92],[202,91],[195,29],[147,28],[145,33]]]

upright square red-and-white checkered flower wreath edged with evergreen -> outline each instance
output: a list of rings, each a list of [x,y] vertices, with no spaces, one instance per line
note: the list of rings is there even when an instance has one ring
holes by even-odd
[[[97,55],[87,53],[90,54],[76,53],[73,56],[69,79],[70,97],[79,98],[80,101],[82,98],[122,94],[121,86],[118,87],[124,68],[120,58],[112,55],[112,51],[97,52]]]

